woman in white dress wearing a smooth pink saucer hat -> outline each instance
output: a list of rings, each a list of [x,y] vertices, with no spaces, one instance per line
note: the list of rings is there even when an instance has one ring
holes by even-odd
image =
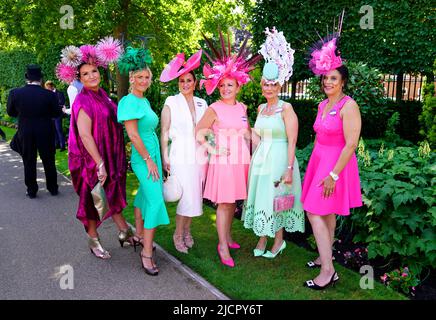
[[[178,54],[160,77],[162,82],[178,78],[180,91],[169,96],[162,109],[161,152],[164,170],[176,177],[183,190],[177,205],[173,235],[174,246],[182,253],[188,253],[194,245],[192,217],[203,214],[207,153],[195,140],[195,126],[206,111],[207,103],[194,96],[197,80],[193,72],[200,65],[201,53],[198,51],[186,63],[183,53]]]

